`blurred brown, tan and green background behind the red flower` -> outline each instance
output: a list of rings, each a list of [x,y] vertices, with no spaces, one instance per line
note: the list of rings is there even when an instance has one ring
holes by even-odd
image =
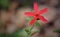
[[[30,35],[25,29],[30,29],[31,19],[24,13],[34,11],[34,2],[38,10],[48,8],[42,14],[48,22],[38,20],[32,29],[38,32]],[[0,37],[60,37],[60,0],[0,0]]]

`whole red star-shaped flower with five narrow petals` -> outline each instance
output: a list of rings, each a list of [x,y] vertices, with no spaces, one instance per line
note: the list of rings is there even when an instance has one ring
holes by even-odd
[[[34,13],[32,13],[32,12],[26,12],[25,15],[27,15],[27,16],[33,16],[34,17],[32,19],[32,21],[30,22],[30,25],[34,24],[35,21],[36,21],[36,19],[40,19],[44,23],[46,23],[47,20],[43,16],[41,16],[41,14],[43,14],[43,13],[45,13],[47,11],[48,11],[47,8],[44,8],[43,10],[40,10],[38,12],[38,5],[37,5],[37,3],[34,3]]]

